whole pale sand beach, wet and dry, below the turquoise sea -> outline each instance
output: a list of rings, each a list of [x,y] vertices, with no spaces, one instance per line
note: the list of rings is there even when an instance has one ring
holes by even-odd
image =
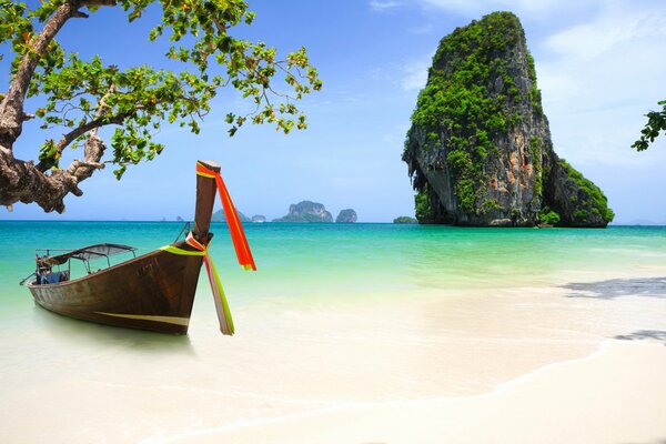
[[[263,301],[236,310],[234,337],[216,332],[208,289],[186,337],[36,307],[16,320],[27,336],[0,337],[0,442],[656,444],[666,299],[654,272]],[[654,294],[628,294],[636,282]]]

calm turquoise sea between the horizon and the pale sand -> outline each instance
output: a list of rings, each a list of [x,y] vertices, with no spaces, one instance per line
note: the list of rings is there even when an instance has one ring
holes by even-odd
[[[38,248],[109,242],[145,253],[173,241],[171,222],[0,222],[0,313],[31,306],[19,281]],[[226,226],[211,251],[232,305],[412,292],[541,285],[586,274],[640,273],[666,264],[666,228],[463,229],[395,224],[246,224],[259,271],[235,262]],[[100,264],[101,266],[101,264]],[[206,291],[205,280],[200,291]]]

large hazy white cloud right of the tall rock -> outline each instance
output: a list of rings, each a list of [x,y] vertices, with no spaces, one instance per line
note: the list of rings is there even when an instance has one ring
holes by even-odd
[[[664,99],[666,3],[608,2],[585,23],[546,37],[536,48],[557,151],[583,165],[640,162],[629,147],[645,123],[643,114]],[[666,153],[659,157],[666,162]]]

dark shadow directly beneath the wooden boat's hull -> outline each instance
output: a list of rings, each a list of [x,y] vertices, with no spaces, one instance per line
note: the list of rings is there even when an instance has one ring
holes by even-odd
[[[59,341],[94,342],[108,346],[122,346],[147,353],[194,354],[190,337],[142,330],[121,329],[79,321],[34,305],[36,320]]]

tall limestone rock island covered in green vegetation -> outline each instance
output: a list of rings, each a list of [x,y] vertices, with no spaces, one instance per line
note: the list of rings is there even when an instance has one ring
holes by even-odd
[[[602,191],[553,150],[517,17],[494,12],[442,39],[403,160],[421,223],[604,228]]]

